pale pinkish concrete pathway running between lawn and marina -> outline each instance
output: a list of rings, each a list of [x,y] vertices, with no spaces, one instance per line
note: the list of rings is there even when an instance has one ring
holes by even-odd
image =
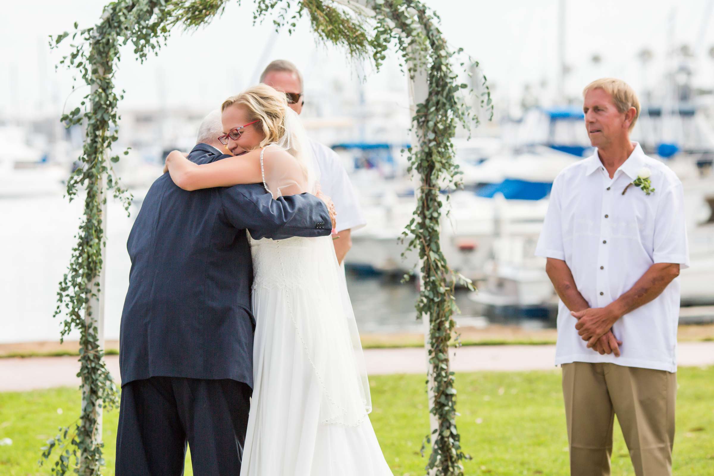
[[[423,348],[368,349],[364,351],[369,375],[426,373]],[[470,346],[452,350],[451,365],[456,372],[481,370],[554,369],[555,345]],[[714,365],[714,342],[680,343],[679,365]],[[106,358],[109,371],[119,380],[119,356]],[[0,359],[0,392],[78,386],[79,363],[76,357],[38,357]]]

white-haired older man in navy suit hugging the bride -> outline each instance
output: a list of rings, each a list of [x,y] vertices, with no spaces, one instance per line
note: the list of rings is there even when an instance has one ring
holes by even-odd
[[[217,112],[217,111],[216,111]],[[220,113],[188,158],[222,155]],[[146,194],[127,248],[116,476],[238,475],[253,385],[253,238],[330,234],[320,198],[273,200],[261,184],[183,191],[168,173]]]

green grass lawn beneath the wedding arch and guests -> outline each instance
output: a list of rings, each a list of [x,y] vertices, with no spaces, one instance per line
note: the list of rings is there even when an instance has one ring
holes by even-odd
[[[568,475],[565,412],[560,371],[464,373],[456,375],[458,429],[466,451],[467,475]],[[714,367],[683,368],[677,396],[674,474],[714,475]],[[371,420],[395,475],[423,475],[418,449],[428,432],[424,378],[375,376]],[[77,415],[79,392],[71,388],[0,393],[0,475],[47,475],[39,470],[39,448],[59,425]],[[61,409],[61,413],[58,412]],[[114,475],[117,413],[105,415],[105,475]],[[190,463],[186,475],[192,475]],[[634,475],[627,448],[615,430],[613,475]]]

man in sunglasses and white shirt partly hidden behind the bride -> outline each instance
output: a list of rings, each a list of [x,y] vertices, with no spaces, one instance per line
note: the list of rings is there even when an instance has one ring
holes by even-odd
[[[303,78],[297,67],[290,61],[278,59],[266,66],[261,74],[261,83],[273,86],[288,96],[288,104],[296,113],[301,113],[305,98]],[[311,146],[320,168],[322,192],[332,198],[337,211],[337,236],[333,240],[335,253],[340,264],[352,248],[351,233],[366,225],[355,190],[340,163],[340,158],[328,146],[311,140]]]

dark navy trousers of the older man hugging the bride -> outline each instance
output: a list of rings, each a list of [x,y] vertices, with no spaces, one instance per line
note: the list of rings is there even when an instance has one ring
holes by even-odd
[[[236,380],[152,377],[121,388],[116,476],[181,476],[186,442],[193,474],[241,472],[251,388]]]

